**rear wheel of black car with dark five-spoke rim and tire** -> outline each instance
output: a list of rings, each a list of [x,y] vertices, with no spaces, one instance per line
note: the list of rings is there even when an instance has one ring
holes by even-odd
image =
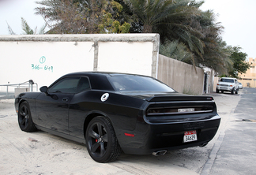
[[[85,141],[88,154],[96,162],[115,161],[122,151],[111,122],[103,116],[95,117],[89,122]]]

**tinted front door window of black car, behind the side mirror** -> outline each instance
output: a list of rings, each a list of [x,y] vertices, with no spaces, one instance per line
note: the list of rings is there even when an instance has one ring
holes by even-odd
[[[80,77],[67,77],[59,80],[56,84],[49,88],[50,93],[62,92],[62,93],[76,93],[77,84]]]

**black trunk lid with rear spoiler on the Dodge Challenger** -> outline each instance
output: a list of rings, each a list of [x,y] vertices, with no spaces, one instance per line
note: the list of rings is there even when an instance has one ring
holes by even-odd
[[[211,101],[213,97],[201,95],[185,95],[178,92],[158,92],[158,91],[129,91],[121,92],[122,95],[133,96],[149,102],[169,102],[169,101]]]

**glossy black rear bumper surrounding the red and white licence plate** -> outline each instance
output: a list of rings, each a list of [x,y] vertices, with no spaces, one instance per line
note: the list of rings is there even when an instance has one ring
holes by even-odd
[[[119,131],[119,134],[129,132],[130,136],[118,136],[122,151],[126,154],[149,155],[155,151],[174,150],[186,147],[196,147],[208,143],[215,136],[220,125],[218,115],[211,119],[169,124],[150,125],[137,123],[134,131]],[[183,142],[184,132],[197,131],[197,141]]]

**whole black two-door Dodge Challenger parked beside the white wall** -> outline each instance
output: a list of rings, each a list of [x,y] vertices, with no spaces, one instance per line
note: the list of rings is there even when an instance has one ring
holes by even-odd
[[[213,97],[183,95],[149,76],[70,73],[15,99],[24,132],[40,129],[85,143],[96,162],[121,151],[164,155],[205,146],[220,125]]]

